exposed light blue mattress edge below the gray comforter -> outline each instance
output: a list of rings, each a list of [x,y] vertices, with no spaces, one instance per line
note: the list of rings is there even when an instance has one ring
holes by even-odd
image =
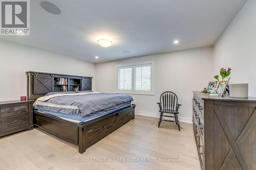
[[[107,111],[101,111],[96,114],[88,114],[86,116],[82,116],[80,114],[65,114],[65,113],[59,113],[59,112],[52,112],[52,111],[41,110],[41,109],[37,109],[37,112],[43,113],[43,114],[48,114],[48,115],[53,115],[53,116],[59,117],[61,119],[67,120],[69,122],[83,124],[83,123],[93,122],[93,120],[95,120],[95,119],[104,117],[106,115],[113,114],[115,112],[118,112],[120,110],[123,110],[123,109],[131,107],[131,106],[132,106],[131,102],[128,102],[128,103],[120,105],[117,108],[115,107],[115,109],[108,109]]]

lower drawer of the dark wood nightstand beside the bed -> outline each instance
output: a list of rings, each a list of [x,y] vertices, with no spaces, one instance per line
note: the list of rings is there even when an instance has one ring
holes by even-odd
[[[28,116],[20,116],[1,121],[2,132],[12,131],[19,128],[28,127]]]

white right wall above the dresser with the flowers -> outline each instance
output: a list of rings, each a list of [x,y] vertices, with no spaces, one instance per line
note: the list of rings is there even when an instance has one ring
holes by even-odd
[[[256,1],[248,0],[214,47],[214,74],[231,67],[231,83],[249,83],[256,97]]]

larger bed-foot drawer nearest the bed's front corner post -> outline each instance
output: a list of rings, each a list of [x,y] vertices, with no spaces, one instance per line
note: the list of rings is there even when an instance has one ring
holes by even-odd
[[[99,119],[86,127],[86,146],[89,147],[116,128],[116,115]]]

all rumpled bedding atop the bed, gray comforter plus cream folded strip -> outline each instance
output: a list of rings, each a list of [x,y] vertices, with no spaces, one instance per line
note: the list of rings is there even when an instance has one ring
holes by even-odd
[[[33,104],[34,109],[48,110],[65,114],[80,114],[86,116],[93,113],[116,109],[120,105],[132,102],[129,94],[81,92],[45,95]]]

